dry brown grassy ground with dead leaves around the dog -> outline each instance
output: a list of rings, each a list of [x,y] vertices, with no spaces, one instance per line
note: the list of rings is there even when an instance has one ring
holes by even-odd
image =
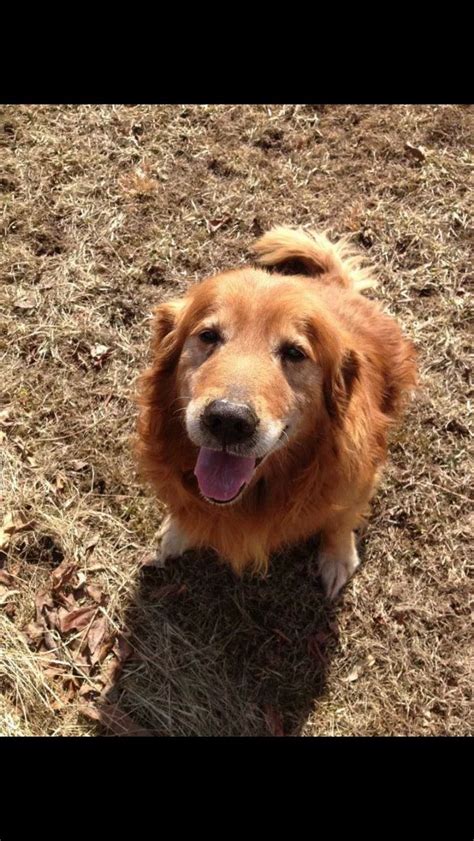
[[[472,140],[465,106],[1,109],[1,734],[472,733]],[[316,541],[142,566],[151,307],[273,224],[351,233],[419,350],[332,606]]]

